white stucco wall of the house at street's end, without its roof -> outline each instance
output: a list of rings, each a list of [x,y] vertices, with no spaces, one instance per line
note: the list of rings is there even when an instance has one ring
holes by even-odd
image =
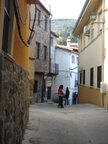
[[[55,62],[59,64],[59,75],[54,80],[52,94],[57,93],[60,85],[64,86],[64,92],[66,87],[69,87],[72,103],[72,93],[77,90],[77,88],[75,89],[75,80],[78,80],[78,54],[56,48],[55,55]],[[75,57],[74,63],[72,63],[72,55]]]

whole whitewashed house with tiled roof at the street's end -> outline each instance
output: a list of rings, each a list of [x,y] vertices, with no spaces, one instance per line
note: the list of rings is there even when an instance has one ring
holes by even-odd
[[[53,82],[53,94],[57,93],[59,85],[70,90],[70,104],[72,94],[78,91],[78,44],[67,41],[67,46],[57,45],[55,51],[55,62],[59,65],[59,74]]]

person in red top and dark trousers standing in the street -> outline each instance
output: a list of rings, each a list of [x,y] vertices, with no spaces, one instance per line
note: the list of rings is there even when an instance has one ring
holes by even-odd
[[[63,108],[63,85],[60,85],[60,86],[59,86],[58,96],[59,96],[58,107]]]

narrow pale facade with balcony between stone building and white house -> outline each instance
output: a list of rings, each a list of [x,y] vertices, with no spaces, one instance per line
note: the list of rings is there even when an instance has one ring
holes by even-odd
[[[50,63],[49,63],[49,73],[46,81],[46,99],[52,99],[52,91],[53,91],[53,82],[55,77],[59,74],[59,65],[56,63],[56,46],[57,46],[57,38],[58,36],[51,31],[50,38]]]

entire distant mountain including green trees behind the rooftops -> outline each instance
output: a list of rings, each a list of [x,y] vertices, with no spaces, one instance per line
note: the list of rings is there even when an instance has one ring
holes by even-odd
[[[58,36],[58,44],[67,45],[67,38],[70,38],[72,42],[77,42],[78,38],[72,34],[75,26],[75,19],[54,19],[51,23],[51,30]]]

